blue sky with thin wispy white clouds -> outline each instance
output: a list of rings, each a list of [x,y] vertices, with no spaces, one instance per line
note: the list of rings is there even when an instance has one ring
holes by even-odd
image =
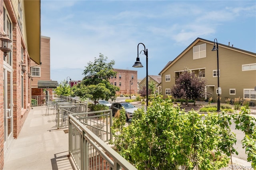
[[[148,49],[149,75],[198,37],[256,53],[256,1],[41,0],[41,35],[51,39],[54,81],[81,80],[100,53],[143,79],[146,56],[140,54],[143,68],[132,67],[138,43]]]

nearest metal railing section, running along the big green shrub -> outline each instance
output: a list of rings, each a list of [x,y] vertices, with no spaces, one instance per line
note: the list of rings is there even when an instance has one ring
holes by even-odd
[[[91,114],[91,115],[89,115]],[[105,121],[100,121],[101,119]],[[69,155],[72,156],[79,170],[136,170],[132,164],[120,156],[101,138],[98,130],[112,139],[110,127],[112,126],[112,110],[79,113],[68,115]],[[110,124],[109,127],[102,127]],[[92,132],[89,128],[97,129]],[[109,130],[109,132],[108,132]],[[106,140],[108,138],[106,137]],[[106,141],[105,140],[105,141]]]

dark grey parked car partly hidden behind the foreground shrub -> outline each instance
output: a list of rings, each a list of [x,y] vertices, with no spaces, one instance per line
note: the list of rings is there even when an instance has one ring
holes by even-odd
[[[131,103],[122,103],[122,102],[114,102],[110,106],[110,109],[112,109],[113,116],[115,116],[116,112],[124,107],[125,114],[126,114],[126,120],[132,119],[132,114],[134,111],[138,110],[138,108],[134,107]]]

